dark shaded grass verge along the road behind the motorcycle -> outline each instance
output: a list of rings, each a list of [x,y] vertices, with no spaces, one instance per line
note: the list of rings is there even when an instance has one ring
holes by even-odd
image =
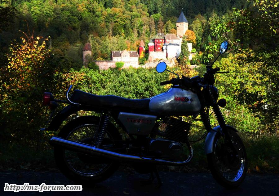
[[[255,138],[245,133],[239,133],[246,147],[248,168],[250,171],[279,171],[279,138],[276,135],[266,135]],[[192,139],[192,138],[191,138]],[[0,144],[0,169],[31,169],[42,170],[56,168],[53,158],[53,148],[49,145],[30,147],[11,143]],[[186,168],[191,170],[207,170],[204,140],[193,144],[194,157]],[[186,155],[185,157],[188,155]],[[256,169],[257,167],[257,169]],[[175,167],[176,168],[176,167]],[[177,170],[176,168],[174,170]],[[179,169],[181,170],[181,168]]]

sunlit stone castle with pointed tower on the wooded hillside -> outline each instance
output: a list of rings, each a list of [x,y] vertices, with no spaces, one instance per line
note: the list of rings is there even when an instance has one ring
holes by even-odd
[[[182,10],[179,18],[176,21],[176,35],[172,33],[157,33],[148,43],[148,60],[153,62],[156,60],[166,60],[172,58],[178,58],[181,52],[182,37],[188,30],[188,21],[183,14]],[[189,60],[192,59],[192,43],[187,43],[188,50],[190,52]],[[108,69],[109,67],[115,67],[115,63],[124,62],[124,68],[133,66],[139,67],[139,58],[145,56],[145,44],[141,40],[139,44],[139,53],[137,51],[111,51],[111,60],[96,60],[96,65],[99,65],[100,69]],[[86,56],[91,55],[91,45],[86,43],[82,51],[83,65],[86,65]]]

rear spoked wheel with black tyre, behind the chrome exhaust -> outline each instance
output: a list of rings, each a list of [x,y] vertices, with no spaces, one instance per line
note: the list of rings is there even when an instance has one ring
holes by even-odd
[[[79,117],[66,124],[58,136],[67,140],[95,145],[98,124],[98,117]],[[121,140],[121,136],[115,127],[110,124],[100,148],[108,150],[116,148],[117,144],[114,140]],[[103,181],[110,177],[119,167],[117,161],[73,152],[62,147],[54,148],[54,156],[60,171],[70,180],[80,184]]]

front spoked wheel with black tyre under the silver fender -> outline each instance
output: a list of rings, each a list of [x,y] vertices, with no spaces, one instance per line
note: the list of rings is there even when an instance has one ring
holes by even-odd
[[[212,176],[226,188],[239,186],[247,172],[247,155],[241,138],[227,128],[225,136],[217,133],[213,152],[207,154],[207,162]]]

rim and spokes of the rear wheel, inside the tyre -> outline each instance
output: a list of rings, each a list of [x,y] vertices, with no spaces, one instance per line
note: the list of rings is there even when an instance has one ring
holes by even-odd
[[[83,142],[86,138],[92,138],[91,143],[90,140],[86,141],[85,143],[94,145],[97,129],[98,126],[95,124],[85,124],[73,129],[65,139],[77,141],[77,142]],[[104,135],[104,139],[105,138],[109,138],[110,140],[112,139],[112,137],[108,133]],[[114,146],[113,142],[111,142],[110,145],[106,145],[107,148],[109,146]],[[112,164],[112,161],[107,163],[90,163],[88,161],[85,162],[86,159],[87,160],[92,159],[92,161],[94,160],[100,161],[101,158],[88,156],[88,155],[84,155],[78,152],[73,152],[65,149],[63,149],[63,157],[69,169],[71,169],[74,173],[78,173],[79,175],[82,176],[100,175],[101,173],[105,172]],[[86,157],[86,159],[82,161],[81,157]]]

